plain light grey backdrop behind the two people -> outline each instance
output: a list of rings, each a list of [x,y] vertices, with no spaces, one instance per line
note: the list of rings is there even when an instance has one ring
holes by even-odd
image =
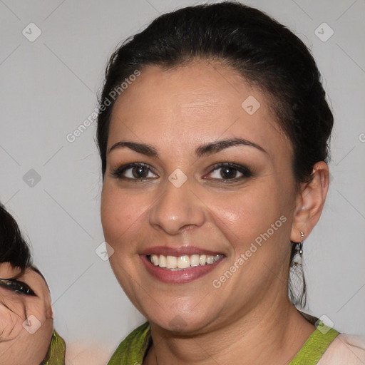
[[[289,26],[322,72],[335,125],[327,202],[304,242],[307,312],[365,335],[365,1],[243,2]],[[0,0],[0,200],[31,241],[67,341],[115,347],[144,319],[96,254],[96,123],[73,142],[66,137],[96,108],[118,43],[192,4],[202,1]]]

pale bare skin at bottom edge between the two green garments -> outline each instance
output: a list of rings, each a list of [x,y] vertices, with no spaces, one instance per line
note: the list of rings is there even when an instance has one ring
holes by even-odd
[[[113,349],[93,341],[78,341],[66,346],[65,365],[106,365]]]

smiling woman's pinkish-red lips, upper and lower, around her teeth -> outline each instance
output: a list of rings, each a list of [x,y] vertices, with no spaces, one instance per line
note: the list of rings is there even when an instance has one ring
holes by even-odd
[[[187,269],[180,270],[170,270],[163,267],[155,266],[148,259],[148,255],[165,255],[165,256],[183,256],[183,255],[222,255],[219,252],[202,250],[197,247],[186,246],[179,248],[158,246],[151,247],[148,250],[145,250],[140,255],[140,259],[143,264],[145,264],[145,268],[147,271],[155,277],[155,279],[160,280],[160,282],[165,282],[168,284],[185,284],[188,282],[192,282],[195,279],[203,277],[205,274],[208,274],[212,270],[214,270],[223,259],[225,259],[225,255],[222,255],[220,259],[212,264],[199,265],[196,267],[188,267]]]

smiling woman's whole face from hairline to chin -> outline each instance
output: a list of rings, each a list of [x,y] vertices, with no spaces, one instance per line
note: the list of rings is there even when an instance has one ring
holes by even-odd
[[[287,297],[292,147],[264,93],[217,63],[148,66],[115,103],[107,150],[110,264],[150,322],[191,333]]]

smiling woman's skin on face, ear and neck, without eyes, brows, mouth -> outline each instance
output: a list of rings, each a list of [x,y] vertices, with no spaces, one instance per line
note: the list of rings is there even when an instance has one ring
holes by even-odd
[[[248,96],[261,104],[253,115],[241,107]],[[114,250],[110,264],[151,325],[153,346],[143,364],[287,364],[315,329],[288,299],[290,240],[302,241],[301,231],[305,239],[319,220],[329,169],[317,163],[312,183],[296,189],[292,145],[269,101],[232,69],[196,61],[168,71],[145,67],[115,103],[107,150],[128,140],[153,145],[159,155],[110,151],[101,200],[106,242]],[[200,158],[194,153],[227,138],[245,138],[266,153],[247,145]],[[225,162],[250,166],[252,177],[223,180],[222,169],[214,168]],[[149,165],[148,178],[111,174],[127,163]],[[181,187],[168,180],[177,168],[187,176]],[[132,178],[131,172],[125,175]],[[287,221],[215,289],[213,280],[282,215]],[[204,277],[167,284],[140,259],[160,245],[193,245],[225,259]]]

